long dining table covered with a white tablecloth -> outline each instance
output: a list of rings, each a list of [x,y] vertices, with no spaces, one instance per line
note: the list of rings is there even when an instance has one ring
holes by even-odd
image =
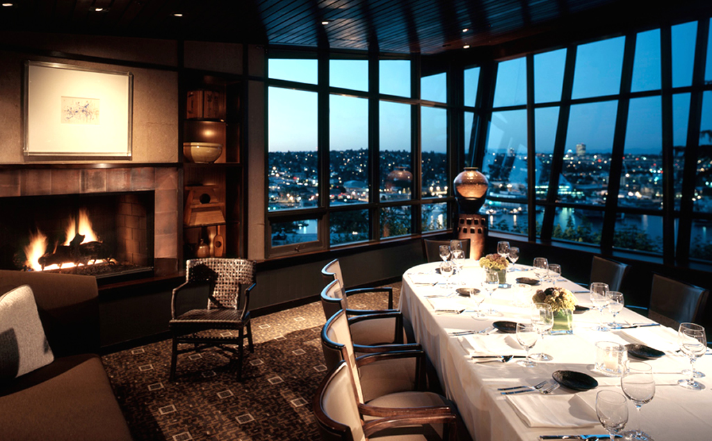
[[[624,430],[640,428],[658,441],[712,439],[712,355],[708,351],[696,361],[696,369],[706,373],[697,379],[706,386],[703,390],[678,385],[678,380],[687,378],[683,370],[690,367],[690,360],[679,351],[676,329],[623,308],[616,321],[623,323],[624,328],[595,330],[599,323],[612,321],[612,315],[607,308],[601,312],[593,306],[585,286],[566,279],[565,264],[556,279],[546,276],[539,279],[530,266],[511,266],[506,281],[479,306],[481,311],[489,308],[495,311],[479,317],[476,303],[456,290],[484,289],[485,270],[477,260],[465,259],[461,269],[446,281],[439,274],[439,265],[439,262],[421,264],[403,274],[399,309],[412,326],[416,341],[434,365],[446,397],[456,404],[473,440],[539,440],[540,436],[606,434],[595,411],[597,391],[622,393],[622,388],[619,375],[596,368],[596,343],[600,341],[638,343],[664,353],[643,360],[652,367],[654,398],[639,411],[632,402],[628,403],[629,422]],[[530,284],[519,284],[517,279]],[[518,365],[516,361],[521,358],[501,358],[524,356],[525,350],[515,333],[506,332],[508,329],[502,326],[500,331],[493,324],[529,323],[532,296],[550,286],[571,291],[584,310],[573,314],[572,333],[540,338],[531,352],[547,353],[552,360],[537,361],[534,367]],[[630,353],[628,359],[638,360]],[[593,378],[597,385],[581,390],[561,386],[548,394],[531,391],[503,395],[498,390],[537,385],[557,373],[571,371],[588,375],[585,378]]]

